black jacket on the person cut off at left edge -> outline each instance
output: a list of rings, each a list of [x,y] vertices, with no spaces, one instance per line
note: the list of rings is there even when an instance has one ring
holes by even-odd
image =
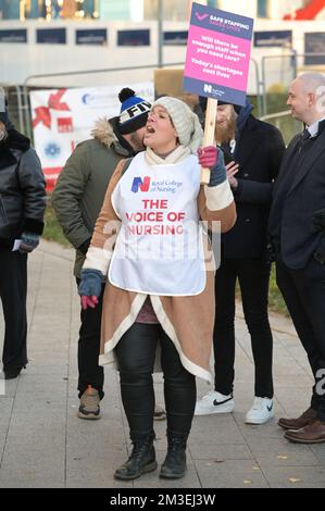
[[[41,234],[46,183],[28,138],[15,129],[0,142],[0,250],[25,232]]]

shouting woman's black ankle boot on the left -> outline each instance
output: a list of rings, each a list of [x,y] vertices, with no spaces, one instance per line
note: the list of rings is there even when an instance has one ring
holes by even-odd
[[[133,451],[128,460],[115,470],[115,479],[130,481],[157,469],[153,447],[154,435],[133,440]]]

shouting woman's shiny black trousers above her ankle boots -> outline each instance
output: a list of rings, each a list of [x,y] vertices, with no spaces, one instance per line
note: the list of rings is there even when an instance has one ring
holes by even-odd
[[[167,432],[188,435],[191,427],[197,397],[195,376],[183,366],[173,341],[160,324],[134,323],[115,348],[122,401],[133,440],[153,431],[152,373],[158,344],[164,374]]]

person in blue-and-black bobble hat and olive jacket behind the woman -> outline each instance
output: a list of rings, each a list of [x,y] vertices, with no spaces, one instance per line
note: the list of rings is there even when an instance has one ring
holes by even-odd
[[[118,99],[121,114],[96,122],[91,132],[93,138],[76,147],[52,194],[59,224],[76,249],[74,275],[77,285],[112,173],[121,159],[133,157],[143,149],[145,125],[151,105],[127,87],[121,90]],[[104,284],[98,307],[80,311],[78,416],[87,420],[100,419],[100,401],[104,396],[103,367],[98,364],[103,289]],[[165,419],[162,407],[157,406],[154,417]]]

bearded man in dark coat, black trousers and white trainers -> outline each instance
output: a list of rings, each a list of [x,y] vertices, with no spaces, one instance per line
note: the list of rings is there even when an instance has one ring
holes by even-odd
[[[204,109],[204,100],[201,99]],[[252,105],[218,102],[215,138],[227,163],[237,222],[222,235],[221,265],[215,277],[214,390],[197,401],[196,415],[232,412],[235,407],[235,290],[238,279],[254,360],[254,400],[246,422],[272,419],[273,338],[267,317],[271,262],[267,261],[267,219],[273,182],[285,151],[277,128],[257,120]],[[236,177],[235,177],[236,176]]]

